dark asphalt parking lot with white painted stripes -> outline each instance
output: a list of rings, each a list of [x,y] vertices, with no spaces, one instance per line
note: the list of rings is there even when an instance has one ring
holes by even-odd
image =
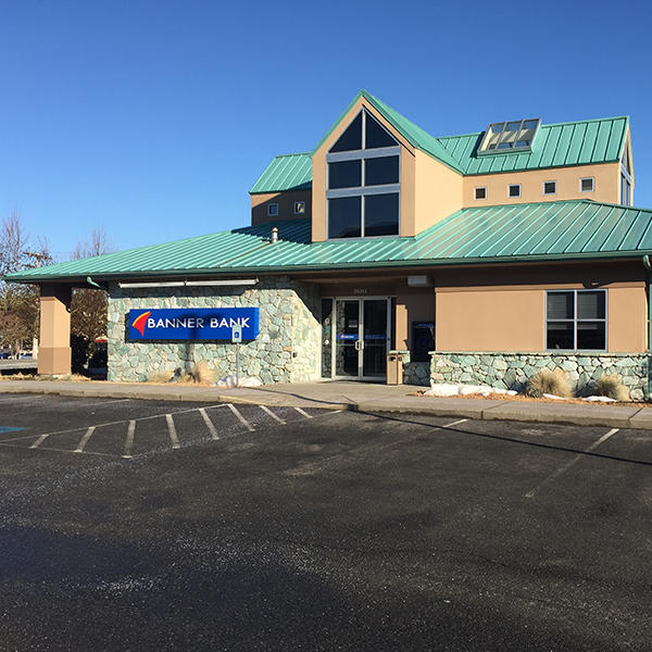
[[[0,650],[649,650],[652,438],[0,397]]]

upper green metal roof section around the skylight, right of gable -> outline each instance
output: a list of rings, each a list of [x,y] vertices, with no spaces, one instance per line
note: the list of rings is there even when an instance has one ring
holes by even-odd
[[[463,174],[490,174],[619,161],[628,125],[627,116],[541,125],[531,151],[484,156],[476,153],[484,131],[438,140]]]

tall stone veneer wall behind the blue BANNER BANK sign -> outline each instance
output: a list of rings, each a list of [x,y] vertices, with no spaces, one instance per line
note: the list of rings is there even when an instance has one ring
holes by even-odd
[[[303,383],[319,377],[319,294],[311,284],[286,277],[255,287],[128,289],[109,292],[109,380],[142,381],[154,372],[184,372],[208,363],[217,378],[236,373],[229,341],[130,342],[125,318],[131,309],[260,308],[260,334],[240,346],[240,375],[264,384]]]

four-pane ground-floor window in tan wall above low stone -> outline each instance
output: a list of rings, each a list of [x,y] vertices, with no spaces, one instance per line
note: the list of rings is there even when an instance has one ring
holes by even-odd
[[[549,290],[546,348],[606,350],[606,290]]]

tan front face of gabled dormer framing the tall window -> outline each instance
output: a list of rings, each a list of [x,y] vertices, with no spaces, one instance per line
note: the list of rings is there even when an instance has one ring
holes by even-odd
[[[313,242],[326,240],[326,153],[363,108],[366,109],[401,146],[401,235],[405,235],[403,233],[403,221],[405,221],[405,224],[408,225],[405,228],[408,229],[410,229],[409,225],[414,221],[414,164],[410,160],[410,158],[414,158],[414,148],[364,98],[360,98],[312,158]]]

